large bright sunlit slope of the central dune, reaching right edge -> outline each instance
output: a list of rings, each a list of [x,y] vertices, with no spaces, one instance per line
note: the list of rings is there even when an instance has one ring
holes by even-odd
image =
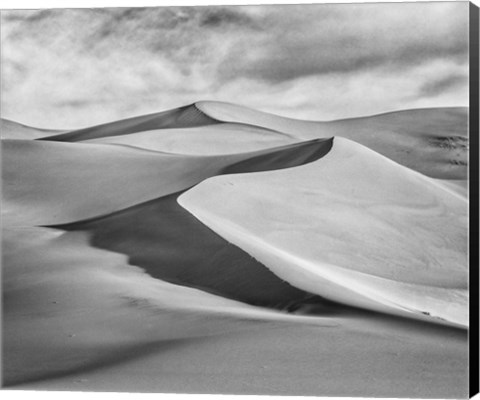
[[[467,201],[335,138],[316,162],[210,178],[179,202],[292,285],[344,304],[467,324]]]

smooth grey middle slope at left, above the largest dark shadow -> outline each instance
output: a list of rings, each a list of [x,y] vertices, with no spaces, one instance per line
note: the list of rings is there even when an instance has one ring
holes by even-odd
[[[3,218],[26,225],[93,218],[185,190],[240,161],[260,162],[257,170],[287,168],[322,157],[331,145],[324,139],[229,156],[186,156],[119,145],[6,140]]]

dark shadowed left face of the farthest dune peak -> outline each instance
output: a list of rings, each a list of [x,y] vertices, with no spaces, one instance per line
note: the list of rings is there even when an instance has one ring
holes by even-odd
[[[78,142],[155,129],[198,127],[217,123],[218,121],[201,112],[195,104],[192,104],[155,114],[142,115],[92,126],[90,128],[78,129],[60,135],[49,136],[42,140]]]

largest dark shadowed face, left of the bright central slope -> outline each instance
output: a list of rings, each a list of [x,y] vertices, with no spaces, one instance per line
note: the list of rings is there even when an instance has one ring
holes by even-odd
[[[230,299],[285,308],[313,297],[198,221],[178,205],[178,195],[56,228],[89,232],[93,246],[126,254],[155,278]]]

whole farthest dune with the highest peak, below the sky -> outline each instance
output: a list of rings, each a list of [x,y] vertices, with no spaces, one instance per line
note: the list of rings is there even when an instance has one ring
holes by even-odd
[[[270,140],[271,146],[276,146],[295,140],[341,136],[430,177],[466,179],[467,122],[467,109],[461,107],[404,110],[320,122],[285,118],[225,102],[200,101],[42,140],[94,141],[186,154],[219,154],[266,148]],[[246,133],[252,130],[254,134],[247,137]],[[275,135],[275,131],[279,134]],[[142,133],[138,136],[130,136],[139,132]],[[119,137],[123,135],[127,136]],[[234,142],[229,144],[232,139]],[[217,146],[210,145],[214,142],[216,150],[212,149]]]

